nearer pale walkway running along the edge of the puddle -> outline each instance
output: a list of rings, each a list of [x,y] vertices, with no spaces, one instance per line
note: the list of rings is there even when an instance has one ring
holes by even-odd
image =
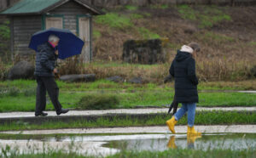
[[[195,126],[201,133],[256,133],[256,125],[213,125]],[[176,133],[186,133],[187,126],[176,126]],[[9,134],[83,134],[83,133],[170,133],[168,127],[108,127],[108,128],[76,128],[31,131],[7,131]]]

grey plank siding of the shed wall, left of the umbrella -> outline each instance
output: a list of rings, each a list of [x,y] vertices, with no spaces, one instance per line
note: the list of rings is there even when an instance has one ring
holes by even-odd
[[[41,15],[15,16],[13,18],[13,50],[15,54],[32,54],[34,51],[28,48],[28,44],[34,34],[42,28]]]

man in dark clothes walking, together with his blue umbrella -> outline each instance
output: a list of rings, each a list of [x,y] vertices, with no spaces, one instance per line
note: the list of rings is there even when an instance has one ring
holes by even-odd
[[[49,28],[33,34],[29,48],[37,52],[35,76],[38,82],[35,116],[47,116],[44,113],[46,106],[46,91],[55,106],[56,114],[65,114],[68,110],[62,109],[59,102],[59,87],[54,74],[56,59],[66,59],[81,54],[84,42],[67,29]]]

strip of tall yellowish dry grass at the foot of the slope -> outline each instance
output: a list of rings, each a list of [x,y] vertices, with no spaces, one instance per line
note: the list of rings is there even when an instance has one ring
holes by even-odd
[[[90,63],[80,65],[69,61],[61,67],[61,75],[66,74],[96,74],[97,79],[109,76],[122,76],[126,80],[132,77],[142,77],[143,82],[162,83],[169,74],[171,62],[158,65],[130,65],[122,63]],[[251,69],[255,61],[238,59],[207,59],[200,57],[196,59],[197,76],[200,81],[231,81],[238,82],[253,79]]]

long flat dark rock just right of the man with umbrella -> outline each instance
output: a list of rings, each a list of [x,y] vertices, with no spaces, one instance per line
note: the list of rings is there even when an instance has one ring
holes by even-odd
[[[63,82],[94,82],[96,81],[95,74],[81,74],[81,75],[64,75],[60,77]]]

